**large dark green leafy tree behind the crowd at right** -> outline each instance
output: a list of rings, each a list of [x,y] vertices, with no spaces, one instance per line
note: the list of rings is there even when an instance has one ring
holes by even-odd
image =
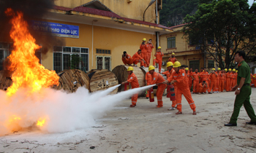
[[[233,68],[236,51],[243,50],[246,55],[255,52],[255,12],[256,4],[249,7],[246,0],[205,1],[198,5],[195,15],[184,18],[184,23],[188,23],[183,28],[184,38],[200,45],[219,67]]]

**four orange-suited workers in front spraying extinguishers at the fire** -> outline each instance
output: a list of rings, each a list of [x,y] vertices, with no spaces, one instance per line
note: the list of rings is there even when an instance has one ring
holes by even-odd
[[[181,63],[176,61],[174,64],[172,62],[167,63],[168,70],[165,71],[165,74],[167,75],[167,80],[165,78],[157,73],[155,71],[154,66],[148,67],[148,72],[146,73],[146,83],[147,85],[157,85],[157,108],[162,108],[163,101],[162,101],[162,95],[165,92],[165,88],[167,87],[167,84],[174,85],[175,87],[175,93],[176,93],[176,101],[172,101],[172,107],[168,110],[174,110],[178,109],[178,112],[176,114],[182,114],[181,111],[181,95],[184,95],[184,97],[187,99],[190,108],[193,111],[193,115],[196,115],[195,111],[195,102],[192,99],[192,95],[189,90],[188,85],[188,77],[186,75],[186,72],[184,69],[181,68]],[[170,65],[170,66],[169,66]],[[138,78],[133,73],[132,66],[129,66],[127,69],[128,71],[128,79],[125,82],[122,82],[121,84],[124,85],[127,82],[129,82],[133,88],[140,87],[138,84]],[[148,97],[148,95],[147,95]],[[138,94],[135,94],[132,96],[132,104],[130,107],[135,107],[138,100]]]

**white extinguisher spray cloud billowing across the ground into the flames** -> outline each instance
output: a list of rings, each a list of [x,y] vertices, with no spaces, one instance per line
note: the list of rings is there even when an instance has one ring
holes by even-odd
[[[12,127],[35,126],[40,118],[45,119],[45,125],[40,127],[40,130],[49,133],[91,127],[95,125],[94,119],[102,117],[116,103],[154,85],[108,95],[118,86],[96,93],[89,93],[89,90],[80,87],[75,93],[47,88],[40,90],[39,93],[24,95],[26,92],[23,89],[18,90],[12,97],[8,97],[6,92],[0,90],[0,135],[10,133]],[[10,117],[20,119],[15,120],[16,125],[8,125]]]

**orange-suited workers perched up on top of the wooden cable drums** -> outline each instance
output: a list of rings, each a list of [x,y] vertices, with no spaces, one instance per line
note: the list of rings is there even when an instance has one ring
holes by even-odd
[[[149,66],[150,59],[151,59],[151,52],[154,48],[154,45],[152,44],[152,39],[149,39],[149,41],[146,43],[146,38],[143,38],[143,42],[140,44],[140,50],[138,50],[134,55],[128,55],[126,51],[124,51],[122,55],[122,60],[124,65],[137,66],[138,63],[140,63],[140,67],[145,68]],[[164,53],[161,52],[161,47],[157,47],[157,52],[154,54],[156,57],[153,60],[153,66],[155,66],[156,63],[158,63],[159,73],[162,72],[162,56],[164,56]],[[168,59],[168,61],[175,63],[177,59],[175,58],[175,53],[173,52],[171,57]]]

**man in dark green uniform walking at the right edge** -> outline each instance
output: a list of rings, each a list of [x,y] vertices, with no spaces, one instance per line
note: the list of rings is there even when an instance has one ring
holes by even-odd
[[[237,85],[232,88],[232,91],[236,90],[236,100],[234,104],[234,111],[230,118],[230,122],[225,124],[225,126],[236,126],[238,114],[241,109],[241,106],[243,105],[249,118],[251,118],[251,121],[246,122],[246,124],[256,125],[255,111],[253,110],[252,105],[249,101],[250,95],[252,93],[252,88],[250,86],[250,69],[248,64],[244,61],[244,58],[245,52],[236,52],[235,61],[238,63],[238,77]]]

